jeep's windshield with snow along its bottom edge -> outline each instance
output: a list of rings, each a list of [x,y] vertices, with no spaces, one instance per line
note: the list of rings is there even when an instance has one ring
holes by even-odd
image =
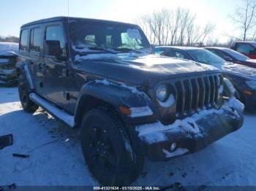
[[[69,34],[73,49],[80,52],[88,48],[129,51],[150,47],[143,31],[129,24],[75,21],[69,24]]]

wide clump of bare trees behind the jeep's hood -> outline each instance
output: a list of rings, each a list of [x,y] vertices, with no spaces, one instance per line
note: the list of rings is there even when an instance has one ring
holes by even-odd
[[[203,43],[214,30],[215,25],[207,23],[201,28],[189,9],[162,9],[142,15],[135,23],[143,28],[148,39],[159,45],[192,45]]]

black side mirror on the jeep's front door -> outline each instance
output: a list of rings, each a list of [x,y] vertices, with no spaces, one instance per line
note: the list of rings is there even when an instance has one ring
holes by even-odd
[[[61,43],[56,40],[45,40],[45,55],[55,56],[57,59],[61,58]]]

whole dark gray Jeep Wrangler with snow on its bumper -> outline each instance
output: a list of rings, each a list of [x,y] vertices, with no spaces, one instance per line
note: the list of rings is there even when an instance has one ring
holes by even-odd
[[[53,17],[21,27],[20,102],[81,128],[101,184],[135,181],[143,158],[189,154],[241,128],[244,106],[211,66],[152,55],[140,27]]]

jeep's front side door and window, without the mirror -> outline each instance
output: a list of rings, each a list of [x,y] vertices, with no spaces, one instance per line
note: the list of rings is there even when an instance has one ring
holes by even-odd
[[[45,26],[45,40],[59,41],[61,46],[61,58],[67,58],[66,39],[61,23],[51,23]],[[44,71],[45,95],[50,101],[61,108],[67,108],[68,101],[68,74],[67,61],[52,55],[44,55],[42,68]]]

